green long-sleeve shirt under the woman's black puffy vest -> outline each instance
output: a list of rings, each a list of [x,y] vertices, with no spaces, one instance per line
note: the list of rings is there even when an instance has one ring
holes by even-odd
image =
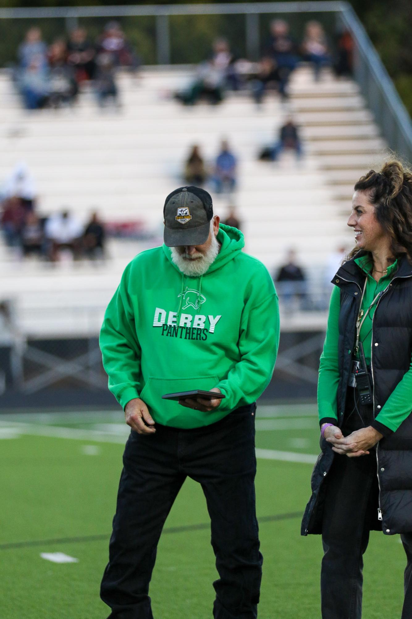
[[[395,261],[388,267],[387,274],[381,277],[379,282],[371,275],[372,263],[369,256],[362,256],[355,259],[361,269],[368,277],[366,290],[363,297],[361,309],[366,312],[377,293],[385,290],[390,283],[393,275],[397,271],[398,262]],[[372,342],[372,317],[376,309],[376,304],[371,307],[369,314],[360,330],[359,342],[363,343],[366,363],[371,362],[371,342]],[[327,321],[326,339],[321,355],[319,365],[319,380],[317,383],[317,406],[319,411],[319,420],[325,418],[337,420],[337,388],[339,383],[339,368],[338,368],[338,320],[340,313],[340,290],[334,287],[330,297],[329,318]],[[411,403],[412,393],[412,360],[410,369],[393,389],[392,394],[385,402],[382,410],[376,417],[377,430],[382,431],[382,434],[389,435],[398,429],[403,420],[408,417],[412,409]],[[389,428],[386,432],[385,428]]]

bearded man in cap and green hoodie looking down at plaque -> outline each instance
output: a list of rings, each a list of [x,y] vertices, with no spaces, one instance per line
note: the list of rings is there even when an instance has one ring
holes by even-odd
[[[191,477],[211,518],[214,617],[252,619],[263,560],[254,413],[279,344],[277,295],[266,267],[242,252],[242,232],[219,225],[207,191],[176,189],[163,212],[164,245],[128,264],[101,329],[109,389],[132,428],[101,598],[111,619],[153,618],[156,548]],[[198,389],[225,397],[162,399]]]

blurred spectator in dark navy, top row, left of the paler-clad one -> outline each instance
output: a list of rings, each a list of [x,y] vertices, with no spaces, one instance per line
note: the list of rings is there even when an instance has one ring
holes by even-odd
[[[299,61],[297,46],[290,37],[289,29],[284,19],[275,19],[271,22],[271,37],[266,54],[275,60],[280,78],[279,92],[282,97],[287,97],[288,80]]]

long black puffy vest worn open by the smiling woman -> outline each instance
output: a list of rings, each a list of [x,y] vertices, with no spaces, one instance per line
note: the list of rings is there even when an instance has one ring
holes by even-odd
[[[363,255],[359,252],[356,258]],[[365,274],[355,259],[345,262],[332,282],[340,288],[337,392],[338,424],[342,425],[348,378],[355,346],[356,318]],[[393,389],[410,369],[412,357],[412,266],[400,259],[397,272],[381,293],[372,319],[371,368],[376,417]],[[412,410],[412,393],[411,393]],[[322,454],[312,474],[313,494],[306,506],[301,533],[320,533],[323,481],[334,459],[330,444],[321,441]],[[377,475],[382,530],[387,535],[412,532],[412,415],[377,446]]]

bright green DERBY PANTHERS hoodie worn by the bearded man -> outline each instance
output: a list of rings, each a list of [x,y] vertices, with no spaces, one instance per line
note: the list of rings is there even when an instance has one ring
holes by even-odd
[[[277,295],[266,267],[242,252],[243,234],[221,225],[221,251],[188,277],[163,245],[126,267],[100,334],[109,389],[124,408],[140,397],[155,422],[198,428],[251,404],[269,383],[279,344]],[[219,387],[212,412],[162,394]]]

